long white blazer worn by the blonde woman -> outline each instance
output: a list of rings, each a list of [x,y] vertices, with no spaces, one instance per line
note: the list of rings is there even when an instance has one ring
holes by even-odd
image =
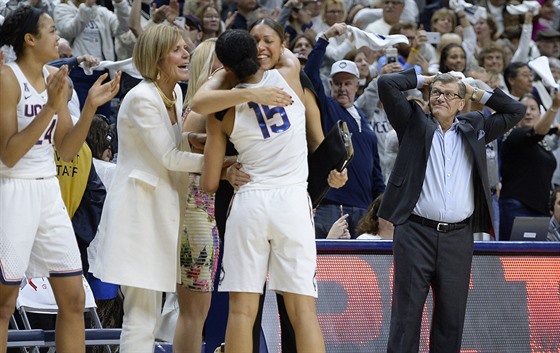
[[[181,151],[183,96],[175,87],[171,125],[153,83],[125,96],[117,119],[118,163],[93,247],[91,272],[101,280],[174,292],[179,279],[179,226],[187,173],[200,173],[203,155]],[[183,142],[184,141],[184,142]]]

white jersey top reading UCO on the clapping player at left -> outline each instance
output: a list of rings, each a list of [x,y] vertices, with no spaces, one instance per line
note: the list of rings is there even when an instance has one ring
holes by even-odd
[[[47,90],[45,89],[45,91],[38,93],[27,81],[27,78],[15,62],[6,65],[16,75],[21,90],[21,98],[17,104],[19,132],[25,129],[47,104]],[[49,72],[44,67],[43,77],[45,81],[48,75]],[[0,161],[0,176],[31,179],[47,178],[56,175],[53,143],[57,118],[58,116],[55,114],[39,140],[14,167],[8,168]]]

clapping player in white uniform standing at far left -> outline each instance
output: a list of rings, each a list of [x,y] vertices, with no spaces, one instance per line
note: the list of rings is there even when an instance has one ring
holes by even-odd
[[[94,83],[74,125],[68,68],[46,65],[58,58],[58,40],[53,19],[28,6],[0,28],[0,46],[11,45],[17,55],[0,66],[0,352],[6,351],[24,275],[49,277],[59,307],[56,350],[85,352],[80,252],[56,178],[53,145],[64,161],[76,156],[95,110],[117,94],[120,74]]]

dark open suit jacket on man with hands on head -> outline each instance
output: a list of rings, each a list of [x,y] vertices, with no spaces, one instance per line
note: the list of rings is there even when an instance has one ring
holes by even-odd
[[[413,69],[382,75],[378,81],[379,98],[399,139],[399,153],[387,183],[379,216],[395,225],[404,223],[418,202],[432,138],[438,126],[431,115],[426,115],[417,103],[407,101],[402,93],[416,86],[417,77]],[[488,118],[481,112],[457,117],[459,131],[474,158],[473,232],[488,232],[492,227],[485,145],[515,126],[525,114],[525,106],[500,89],[494,90],[486,106],[496,113]]]

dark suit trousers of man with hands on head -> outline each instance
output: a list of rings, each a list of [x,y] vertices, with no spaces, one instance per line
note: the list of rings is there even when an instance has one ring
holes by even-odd
[[[460,351],[473,247],[470,226],[448,233],[411,221],[395,227],[388,353],[418,352],[430,287],[434,303],[430,352]]]

